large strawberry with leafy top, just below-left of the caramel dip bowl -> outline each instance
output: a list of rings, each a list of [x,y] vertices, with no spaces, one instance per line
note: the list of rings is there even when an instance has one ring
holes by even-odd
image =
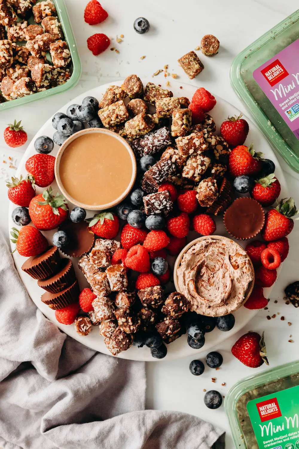
[[[69,215],[67,201],[63,195],[53,195],[52,187],[30,201],[29,215],[37,229],[48,231],[58,228]]]

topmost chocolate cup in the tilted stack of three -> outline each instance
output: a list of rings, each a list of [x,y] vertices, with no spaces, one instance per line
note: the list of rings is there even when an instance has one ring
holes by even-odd
[[[43,254],[30,257],[22,265],[22,270],[34,279],[46,279],[60,269],[60,255],[57,247],[50,247]]]

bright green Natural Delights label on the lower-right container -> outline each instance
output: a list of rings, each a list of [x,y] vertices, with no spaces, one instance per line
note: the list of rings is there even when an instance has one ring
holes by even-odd
[[[260,449],[299,449],[299,385],[249,401]]]

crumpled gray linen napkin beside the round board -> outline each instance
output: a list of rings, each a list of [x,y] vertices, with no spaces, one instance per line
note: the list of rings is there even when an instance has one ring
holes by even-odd
[[[222,449],[195,416],[145,410],[145,364],[67,337],[36,308],[0,233],[0,446]]]

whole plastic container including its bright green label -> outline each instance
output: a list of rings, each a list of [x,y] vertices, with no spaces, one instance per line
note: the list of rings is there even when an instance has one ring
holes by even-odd
[[[236,448],[299,449],[299,361],[241,380],[224,404]]]

